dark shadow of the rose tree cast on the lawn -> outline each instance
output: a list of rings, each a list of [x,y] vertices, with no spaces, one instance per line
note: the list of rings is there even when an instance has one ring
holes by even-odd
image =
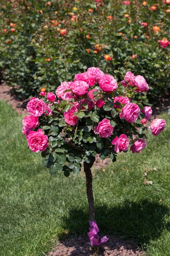
[[[157,202],[142,200],[126,201],[123,205],[108,208],[105,205],[95,207],[95,217],[100,229],[99,236],[117,236],[130,239],[137,244],[149,243],[161,235],[163,229],[170,229],[164,216],[170,209]],[[68,218],[63,219],[63,228],[70,237],[88,232],[88,212],[84,209],[71,209]],[[62,237],[63,238],[63,237]]]

